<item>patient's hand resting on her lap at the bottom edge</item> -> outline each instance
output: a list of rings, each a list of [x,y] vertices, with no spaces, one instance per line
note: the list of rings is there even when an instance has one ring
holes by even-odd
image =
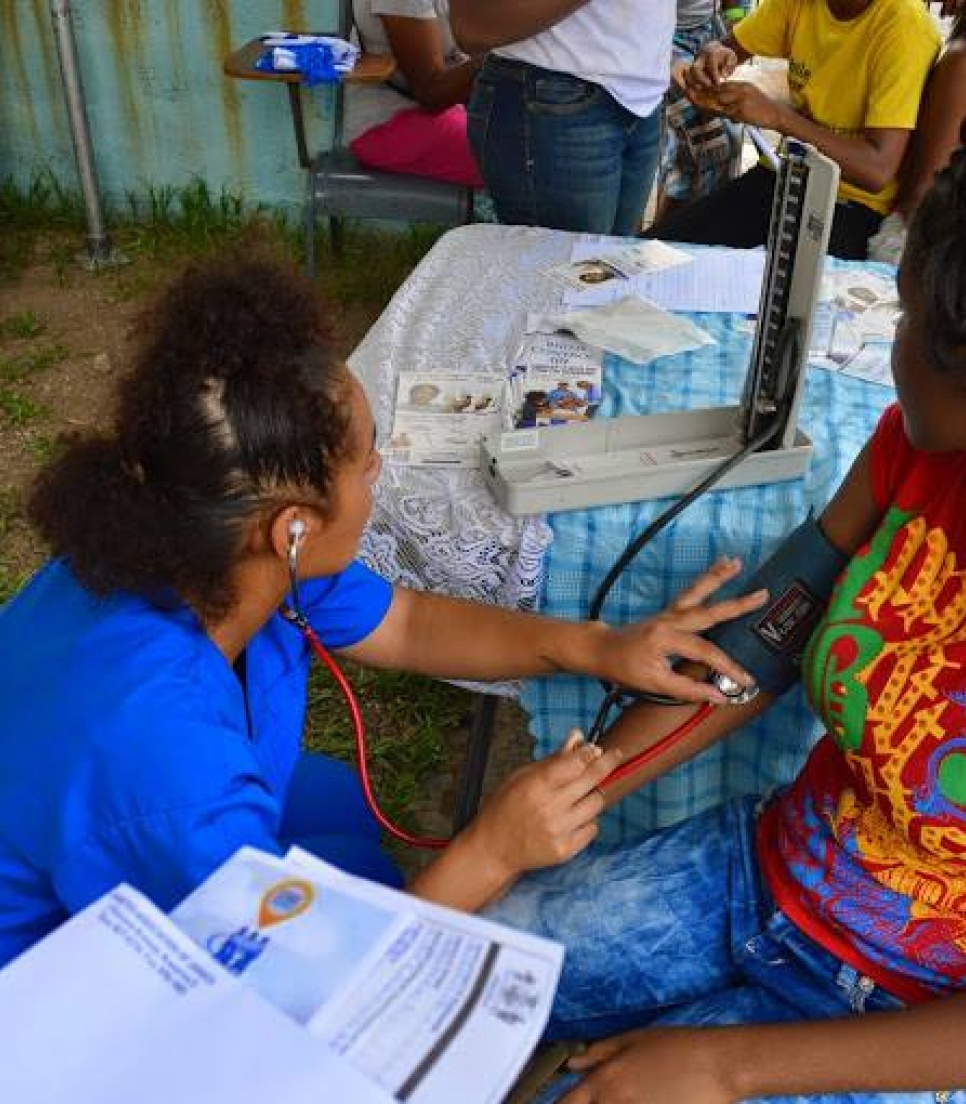
[[[567,1063],[586,1076],[559,1104],[734,1104],[725,1036],[700,1028],[630,1031]]]

